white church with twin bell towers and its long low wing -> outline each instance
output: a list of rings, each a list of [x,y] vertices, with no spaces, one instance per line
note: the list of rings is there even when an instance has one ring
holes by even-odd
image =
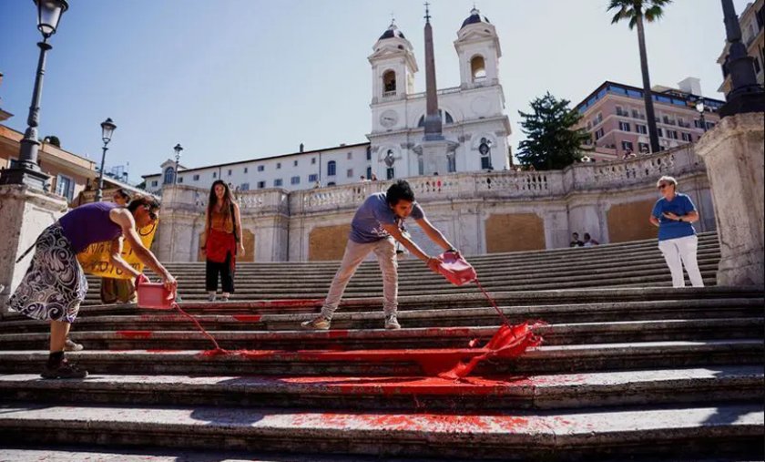
[[[473,9],[457,31],[454,48],[460,59],[459,87],[438,90],[447,173],[502,170],[509,165],[510,121],[498,75],[502,56],[495,26]],[[392,24],[372,46],[372,130],[368,142],[327,149],[301,149],[290,154],[249,159],[196,169],[178,168],[178,183],[209,188],[214,180],[234,190],[306,190],[317,186],[346,185],[372,179],[423,175],[425,92],[414,91],[419,71],[413,46]],[[146,189],[161,193],[175,183],[175,161],[161,171],[145,175]]]

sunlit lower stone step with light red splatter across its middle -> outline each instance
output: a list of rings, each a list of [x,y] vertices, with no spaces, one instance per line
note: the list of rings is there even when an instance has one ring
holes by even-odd
[[[0,406],[0,443],[287,451],[380,457],[761,457],[761,403],[528,414],[271,407]],[[650,442],[650,444],[647,444]]]

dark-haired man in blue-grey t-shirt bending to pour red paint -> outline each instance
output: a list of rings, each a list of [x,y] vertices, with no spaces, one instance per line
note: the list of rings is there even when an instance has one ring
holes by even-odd
[[[414,193],[409,183],[397,180],[387,192],[378,192],[369,196],[356,210],[351,221],[351,233],[345,246],[340,269],[332,279],[330,292],[321,307],[321,314],[311,321],[302,323],[305,329],[326,330],[330,328],[332,314],[345,292],[345,286],[364,258],[374,252],[382,271],[382,310],[385,313],[385,328],[400,329],[396,320],[398,308],[398,262],[396,261],[395,241],[402,243],[414,256],[428,265],[433,272],[438,271],[441,261],[423,252],[409,237],[401,231],[403,221],[412,217],[425,234],[444,251],[457,252],[444,234],[433,227],[425,218],[420,204],[414,201]]]

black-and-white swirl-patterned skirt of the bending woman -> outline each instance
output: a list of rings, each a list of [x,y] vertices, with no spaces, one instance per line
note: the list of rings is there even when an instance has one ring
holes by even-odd
[[[37,238],[35,256],[8,306],[32,319],[74,323],[86,293],[85,272],[56,221]]]

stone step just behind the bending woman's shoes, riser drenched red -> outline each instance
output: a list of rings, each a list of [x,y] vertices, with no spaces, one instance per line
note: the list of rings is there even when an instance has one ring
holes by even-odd
[[[478,348],[380,350],[83,351],[68,354],[94,374],[147,375],[433,375],[429,366],[481,354]],[[516,358],[494,357],[476,375],[542,374],[636,368],[762,364],[762,339],[539,346]],[[35,374],[47,351],[0,351],[0,373]]]

